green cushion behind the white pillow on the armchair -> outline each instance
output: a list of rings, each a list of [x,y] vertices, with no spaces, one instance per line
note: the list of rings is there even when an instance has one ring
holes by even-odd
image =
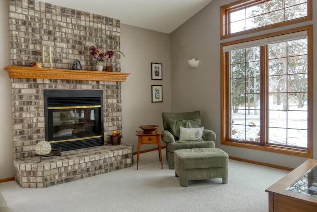
[[[184,119],[167,119],[167,126],[175,138],[179,138],[179,127],[198,128],[200,127],[199,120],[184,120]]]

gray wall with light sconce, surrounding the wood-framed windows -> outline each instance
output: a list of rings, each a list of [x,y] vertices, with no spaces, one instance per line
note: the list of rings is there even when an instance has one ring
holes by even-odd
[[[260,161],[280,166],[295,168],[307,158],[284,154],[251,150],[240,147],[220,144],[220,43],[229,40],[251,37],[273,31],[290,29],[298,26],[314,24],[314,38],[317,34],[317,15],[313,14],[312,21],[220,40],[220,12],[219,7],[236,0],[214,0],[182,26],[171,33],[171,69],[172,69],[172,110],[202,112],[202,124],[218,135],[216,147],[228,152],[230,156],[248,160]],[[317,1],[313,1],[313,8],[317,8]],[[314,42],[314,52],[317,51],[317,42]],[[187,60],[197,57],[200,64],[192,69]],[[316,56],[315,56],[316,58]],[[317,71],[316,64],[314,72]],[[317,83],[314,74],[314,84]],[[314,87],[316,93],[316,86]],[[314,138],[317,134],[317,107],[314,106]],[[314,141],[314,158],[317,159],[317,141]]]

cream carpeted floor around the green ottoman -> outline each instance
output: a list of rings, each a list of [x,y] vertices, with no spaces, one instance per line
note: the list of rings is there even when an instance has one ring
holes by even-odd
[[[165,155],[165,149],[162,152]],[[228,184],[222,179],[179,185],[165,156],[157,151],[136,155],[130,168],[43,189],[0,183],[14,212],[267,212],[265,189],[288,171],[229,160]]]

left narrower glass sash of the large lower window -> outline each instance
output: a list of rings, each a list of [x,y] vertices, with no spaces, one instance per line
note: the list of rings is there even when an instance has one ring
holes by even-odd
[[[230,138],[259,142],[260,47],[230,51]]]

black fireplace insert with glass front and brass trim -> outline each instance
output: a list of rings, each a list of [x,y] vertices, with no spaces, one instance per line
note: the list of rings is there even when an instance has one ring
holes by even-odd
[[[104,145],[102,90],[44,90],[45,140],[69,151]]]

